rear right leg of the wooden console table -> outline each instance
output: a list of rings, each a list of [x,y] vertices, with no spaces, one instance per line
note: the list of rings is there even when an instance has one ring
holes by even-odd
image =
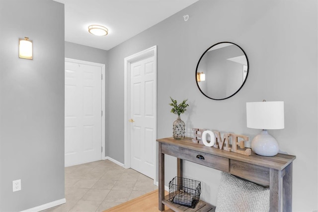
[[[285,168],[285,176],[283,177],[283,211],[291,212],[292,211],[292,174],[293,172],[293,163],[290,163]]]

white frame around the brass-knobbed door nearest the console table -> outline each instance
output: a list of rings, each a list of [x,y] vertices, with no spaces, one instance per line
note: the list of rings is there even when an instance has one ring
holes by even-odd
[[[157,45],[150,47],[148,49],[145,49],[141,52],[138,52],[136,54],[133,54],[129,57],[126,57],[124,59],[124,168],[128,169],[131,167],[131,161],[130,161],[130,122],[128,121],[130,119],[130,65],[132,62],[136,60],[140,60],[143,58],[147,58],[149,56],[154,56],[155,59],[155,81],[156,81],[156,87],[155,87],[155,93],[156,97],[154,98],[155,100],[155,137],[157,138]],[[155,141],[154,141],[155,142]],[[157,182],[157,152],[158,152],[158,145],[156,145],[156,152],[154,152],[154,161],[155,161],[155,179],[154,183]]]

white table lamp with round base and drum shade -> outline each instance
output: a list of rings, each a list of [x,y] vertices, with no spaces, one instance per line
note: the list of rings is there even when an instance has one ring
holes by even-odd
[[[284,102],[246,103],[247,127],[263,129],[252,140],[253,152],[262,156],[275,156],[278,151],[276,139],[266,129],[284,129]]]

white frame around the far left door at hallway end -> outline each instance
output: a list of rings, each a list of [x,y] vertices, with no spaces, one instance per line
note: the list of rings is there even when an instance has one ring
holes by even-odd
[[[72,59],[72,58],[65,58],[65,62],[70,62],[70,63],[78,63],[78,64],[83,64],[83,65],[90,65],[90,66],[97,66],[101,67],[101,110],[102,110],[102,116],[101,116],[101,159],[105,160],[105,114],[106,114],[106,100],[105,100],[105,64],[101,63],[94,63],[94,62],[89,62],[89,61],[84,61],[84,60],[77,60],[77,59]]]

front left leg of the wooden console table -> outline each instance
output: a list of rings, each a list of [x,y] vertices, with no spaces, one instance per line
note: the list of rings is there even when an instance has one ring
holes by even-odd
[[[159,182],[158,182],[158,188],[159,188],[159,211],[164,211],[164,205],[162,204],[162,200],[164,199],[164,154],[162,154],[162,149],[161,149],[161,143],[158,144],[158,155],[159,155],[159,160],[158,160],[158,166],[159,166]]]

